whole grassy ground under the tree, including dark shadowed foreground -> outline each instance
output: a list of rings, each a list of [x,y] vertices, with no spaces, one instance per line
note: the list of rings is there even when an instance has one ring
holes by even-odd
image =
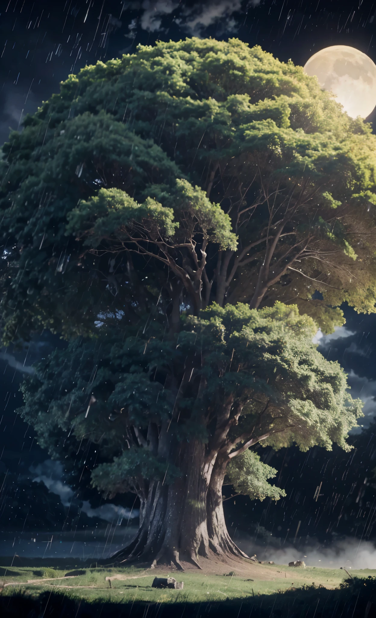
[[[62,563],[63,561],[56,562]],[[65,603],[69,602],[72,607],[78,607],[77,618],[80,618],[80,607],[84,606],[86,613],[84,612],[83,616],[96,616],[98,612],[94,611],[95,608],[101,606],[103,611],[103,607],[106,607],[104,614],[101,614],[102,618],[107,615],[128,616],[131,610],[132,616],[136,618],[139,615],[143,616],[146,607],[155,609],[161,606],[166,609],[170,607],[171,611],[175,608],[171,615],[176,615],[177,618],[180,618],[181,612],[178,613],[180,607],[190,607],[189,614],[191,615],[194,615],[198,607],[210,608],[211,611],[207,611],[206,614],[209,613],[212,616],[220,616],[222,612],[227,616],[229,609],[235,611],[239,608],[241,618],[243,611],[248,611],[251,606],[257,608],[258,613],[255,613],[255,616],[264,616],[265,611],[265,616],[309,617],[315,615],[315,618],[319,618],[333,614],[335,618],[337,616],[336,601],[338,611],[342,608],[338,616],[342,615],[345,618],[349,615],[356,618],[358,615],[364,616],[364,604],[374,595],[374,591],[376,592],[376,570],[369,569],[354,570],[351,572],[354,580],[351,580],[348,574],[340,569],[316,567],[296,569],[286,567],[286,565],[270,564],[252,565],[253,577],[249,577],[249,572],[245,575],[244,572],[241,574],[236,570],[229,572],[228,567],[223,565],[222,569],[217,566],[218,572],[214,574],[197,569],[177,572],[161,567],[156,570],[137,567],[105,569],[94,565],[91,565],[92,568],[85,568],[81,564],[72,564],[72,561],[70,561],[69,568],[64,568],[64,564],[53,564],[51,561],[48,564],[36,566],[4,564],[0,566],[3,607],[7,607],[7,610],[12,609],[14,599],[18,599],[20,603],[21,601],[26,603],[27,599],[30,603],[33,600],[47,599],[43,601],[43,603],[46,602],[46,607],[42,613],[44,618],[48,618],[49,612],[46,611],[48,604],[50,603],[51,609],[54,603],[60,607],[62,600],[59,601],[59,599],[65,599]],[[241,568],[238,570],[241,571]],[[175,577],[178,581],[183,581],[183,590],[152,588],[152,580],[156,575]],[[345,580],[349,583],[344,585]],[[359,593],[354,593],[355,588],[359,589]],[[371,596],[366,598],[368,593]],[[359,601],[359,596],[361,601]],[[359,612],[361,612],[359,614],[356,607],[353,607],[355,598]],[[6,599],[8,599],[8,605]],[[320,599],[324,605],[323,608],[320,606]],[[290,609],[288,613],[285,613],[286,607],[290,608],[290,605],[295,607],[295,613],[290,614]],[[314,605],[316,605],[315,614],[312,609]],[[89,613],[87,607],[91,608]],[[213,614],[215,607],[217,609]],[[327,611],[330,609],[330,613],[327,614],[325,607]],[[331,609],[333,607],[335,613]],[[349,609],[353,614],[348,614]],[[73,609],[61,615],[70,616],[71,611]],[[25,616],[29,613],[26,612]],[[73,616],[75,614],[76,611]],[[152,614],[155,614],[154,610],[149,612],[148,618],[151,618]],[[17,612],[4,614],[4,616],[8,615],[17,616]],[[35,617],[41,615],[40,610],[35,610],[35,614],[30,614],[30,616],[34,615]],[[51,616],[54,615],[52,612]],[[170,614],[159,611],[155,615]],[[200,615],[204,616],[204,612],[197,614],[197,616]],[[244,613],[244,616],[248,615],[249,611],[248,614]],[[373,616],[374,614],[369,614],[369,618]]]

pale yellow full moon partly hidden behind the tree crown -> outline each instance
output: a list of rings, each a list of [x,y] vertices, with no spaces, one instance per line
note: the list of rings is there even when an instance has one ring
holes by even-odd
[[[304,65],[307,75],[316,75],[324,90],[352,118],[366,118],[376,106],[376,64],[366,54],[347,45],[321,49]]]

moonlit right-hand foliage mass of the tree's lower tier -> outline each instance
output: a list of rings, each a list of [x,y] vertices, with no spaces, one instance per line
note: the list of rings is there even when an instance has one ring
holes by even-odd
[[[315,324],[296,306],[276,303],[256,311],[214,304],[187,321],[201,333],[211,363],[224,371],[208,380],[209,398],[234,389],[243,405],[237,432],[252,434],[256,422],[258,433],[268,434],[263,444],[275,448],[296,442],[303,451],[314,444],[330,449],[337,442],[349,449],[345,436],[361,415],[361,401],[347,393],[340,365],[317,352]]]

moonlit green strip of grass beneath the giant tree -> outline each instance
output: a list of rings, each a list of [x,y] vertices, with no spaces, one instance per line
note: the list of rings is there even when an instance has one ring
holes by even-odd
[[[80,574],[73,575],[75,571]],[[256,569],[257,570],[257,566]],[[68,575],[72,572],[72,575]],[[224,599],[246,599],[254,595],[272,595],[288,588],[301,588],[304,585],[338,588],[341,582],[348,578],[340,569],[292,569],[285,565],[262,565],[261,577],[244,577],[236,574],[227,575],[224,566],[222,574],[205,574],[199,570],[176,572],[168,569],[52,569],[51,567],[0,567],[0,582],[4,586],[3,594],[14,591],[62,590],[69,596],[79,596],[88,600],[101,598],[114,601],[152,601],[169,602],[177,597],[186,602],[220,601]],[[265,572],[269,577],[265,577]],[[68,575],[68,577],[67,577]],[[154,577],[175,577],[184,582],[183,590],[157,590],[152,588]],[[368,569],[354,571],[353,577],[376,576],[376,570]],[[106,577],[111,578],[111,588]]]

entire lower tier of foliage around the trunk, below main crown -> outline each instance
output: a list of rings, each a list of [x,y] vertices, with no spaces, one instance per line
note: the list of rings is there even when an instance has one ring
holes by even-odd
[[[106,494],[137,491],[142,480],[172,482],[187,440],[228,457],[237,491],[261,499],[282,492],[268,485],[275,471],[249,446],[349,449],[361,401],[349,396],[340,365],[317,352],[316,326],[294,305],[214,304],[186,315],[173,337],[157,319],[138,331],[121,317],[116,328],[102,320],[97,339],[76,339],[36,366],[19,412],[53,457],[75,458],[82,441],[98,445],[102,464],[91,478]]]

